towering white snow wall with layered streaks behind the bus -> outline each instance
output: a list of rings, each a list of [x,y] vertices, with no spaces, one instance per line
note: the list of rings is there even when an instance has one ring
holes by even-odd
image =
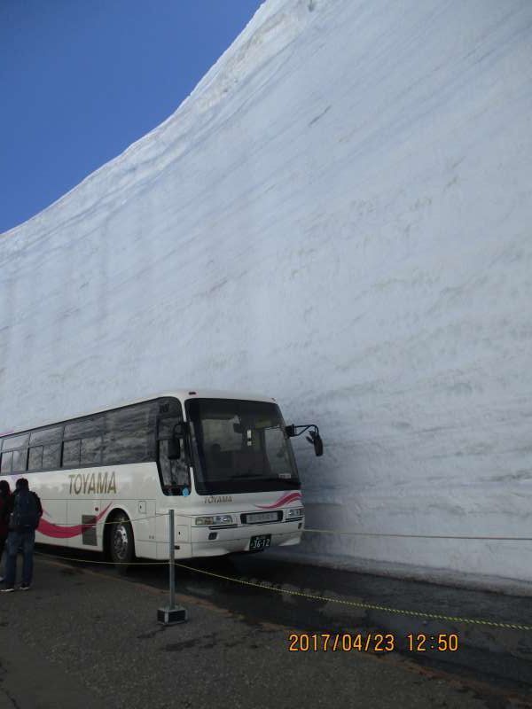
[[[168,121],[0,237],[0,429],[258,391],[320,425],[309,527],[532,537],[531,85],[529,0],[269,0]],[[297,553],[532,582],[532,541]]]

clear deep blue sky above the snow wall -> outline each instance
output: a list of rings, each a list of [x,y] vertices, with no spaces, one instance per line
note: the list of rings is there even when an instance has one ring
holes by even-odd
[[[262,0],[0,0],[0,233],[174,113]]]

